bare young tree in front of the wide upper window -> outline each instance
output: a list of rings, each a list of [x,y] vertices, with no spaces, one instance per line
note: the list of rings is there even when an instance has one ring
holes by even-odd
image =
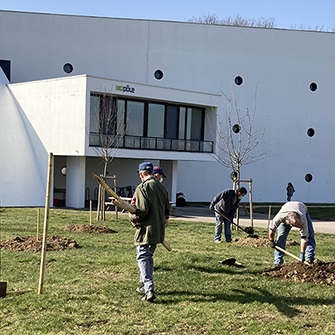
[[[91,96],[90,145],[99,154],[103,164],[101,177],[107,179],[108,165],[113,161],[117,149],[126,135],[127,125],[123,105],[118,105],[117,99],[108,93]],[[105,192],[99,186],[98,219],[105,220]]]

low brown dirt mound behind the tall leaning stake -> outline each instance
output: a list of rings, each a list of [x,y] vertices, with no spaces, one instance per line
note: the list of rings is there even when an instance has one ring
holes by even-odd
[[[32,251],[38,252],[42,250],[42,238],[38,240],[36,237],[17,236],[7,241],[2,241],[0,243],[1,249],[9,249],[12,251]],[[81,248],[76,241],[70,240],[65,237],[59,236],[48,236],[47,237],[47,251],[60,251],[66,249],[77,249]]]

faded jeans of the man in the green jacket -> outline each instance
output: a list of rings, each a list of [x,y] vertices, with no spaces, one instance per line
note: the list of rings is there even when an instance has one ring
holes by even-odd
[[[136,247],[137,264],[140,269],[140,281],[144,291],[154,291],[154,281],[152,278],[154,272],[153,255],[156,250],[156,244],[138,245]]]

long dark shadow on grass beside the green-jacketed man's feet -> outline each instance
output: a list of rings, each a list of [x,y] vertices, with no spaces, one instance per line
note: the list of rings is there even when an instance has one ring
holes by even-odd
[[[252,304],[257,301],[260,303],[267,303],[274,305],[277,310],[286,317],[292,318],[301,313],[301,311],[294,307],[294,305],[335,305],[335,295],[329,299],[305,298],[305,297],[286,297],[281,295],[273,295],[268,290],[253,287],[255,291],[242,291],[239,289],[232,290],[231,294],[223,293],[206,293],[206,292],[185,292],[185,291],[171,291],[161,293],[160,299],[156,301],[158,304],[173,304],[185,302],[185,297],[190,302],[237,302],[240,304]],[[171,299],[169,298],[171,297]]]

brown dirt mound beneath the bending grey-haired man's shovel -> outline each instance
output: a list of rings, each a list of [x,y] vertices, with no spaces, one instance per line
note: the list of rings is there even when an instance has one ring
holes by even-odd
[[[263,275],[282,280],[335,286],[335,262],[325,263],[317,260],[311,266],[292,263],[283,265],[280,269],[265,269]]]

